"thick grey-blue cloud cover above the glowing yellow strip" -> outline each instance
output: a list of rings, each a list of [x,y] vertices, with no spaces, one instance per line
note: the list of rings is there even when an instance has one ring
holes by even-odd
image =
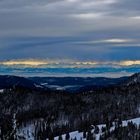
[[[3,0],[0,60],[139,60],[139,16],[139,0]]]

